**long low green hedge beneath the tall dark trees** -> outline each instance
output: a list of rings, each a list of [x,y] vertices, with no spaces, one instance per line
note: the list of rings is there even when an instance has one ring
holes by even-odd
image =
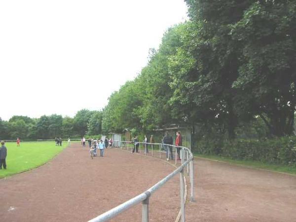
[[[296,137],[277,139],[201,139],[195,151],[199,154],[220,155],[239,160],[257,160],[265,163],[296,167]]]

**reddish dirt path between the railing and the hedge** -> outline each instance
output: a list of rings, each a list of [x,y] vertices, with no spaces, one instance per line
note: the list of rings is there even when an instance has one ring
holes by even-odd
[[[296,221],[296,177],[196,158],[186,222]]]

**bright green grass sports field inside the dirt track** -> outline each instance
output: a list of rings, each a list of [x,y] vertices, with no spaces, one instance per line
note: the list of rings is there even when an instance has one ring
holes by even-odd
[[[0,170],[0,178],[36,168],[61,152],[67,147],[55,146],[55,142],[23,142],[20,147],[16,143],[5,143],[7,148],[7,169]]]

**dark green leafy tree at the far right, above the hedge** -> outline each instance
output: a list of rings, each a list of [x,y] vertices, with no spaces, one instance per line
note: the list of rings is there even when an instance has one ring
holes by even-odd
[[[241,107],[264,120],[271,134],[292,135],[296,107],[296,1],[255,1],[233,24],[243,64],[233,87]]]

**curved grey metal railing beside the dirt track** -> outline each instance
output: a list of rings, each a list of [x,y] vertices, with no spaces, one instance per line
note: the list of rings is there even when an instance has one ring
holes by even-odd
[[[185,181],[184,181],[184,169],[186,168],[186,173],[190,177],[190,201],[194,201],[194,184],[193,184],[193,154],[190,151],[189,148],[185,147],[177,147],[173,145],[168,145],[168,144],[151,144],[151,143],[140,143],[139,144],[139,152],[141,153],[141,144],[144,145],[144,153],[145,155],[148,154],[148,148],[147,146],[150,145],[151,147],[151,156],[154,157],[154,153],[159,151],[159,159],[161,159],[161,154],[164,153],[162,148],[166,148],[166,157],[169,160],[170,158],[170,153],[169,150],[171,151],[170,147],[173,149],[175,148],[175,163],[177,163],[177,150],[180,148],[180,155],[181,155],[181,160],[182,164],[174,170],[172,173],[170,173],[168,176],[166,176],[164,179],[156,183],[155,185],[151,186],[148,190],[145,192],[141,193],[138,196],[135,196],[134,198],[118,205],[117,207],[114,207],[113,209],[99,215],[98,217],[90,220],[89,222],[105,222],[108,221],[120,213],[130,209],[131,207],[139,204],[142,202],[142,222],[148,222],[149,221],[149,198],[150,196],[161,186],[163,186],[166,182],[168,182],[170,179],[172,179],[175,175],[178,173],[180,174],[180,206],[181,206],[181,219],[182,222],[185,222]],[[132,144],[130,141],[113,141],[113,147],[117,148],[135,148],[135,145]],[[159,146],[159,148],[156,149],[156,147]],[[143,147],[143,146],[142,146]],[[158,156],[157,156],[158,158]],[[189,169],[190,168],[190,169]]]

